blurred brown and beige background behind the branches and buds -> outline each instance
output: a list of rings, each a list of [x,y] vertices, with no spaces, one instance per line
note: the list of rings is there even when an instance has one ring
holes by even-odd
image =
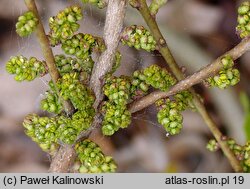
[[[48,31],[48,18],[59,10],[80,0],[37,0],[40,14]],[[150,2],[150,1],[149,1]],[[240,42],[236,35],[236,0],[169,0],[157,15],[159,27],[177,62],[192,74]],[[84,19],[79,32],[102,35],[105,9],[84,6]],[[10,56],[35,56],[43,59],[35,35],[20,38],[15,33],[15,23],[27,9],[23,1],[0,1],[0,172],[47,172],[50,157],[42,152],[23,131],[26,114],[39,110],[39,102],[47,89],[49,77],[33,82],[17,83],[5,71]],[[125,25],[144,25],[138,12],[128,8]],[[59,48],[53,49],[59,53]],[[157,63],[166,66],[155,53],[135,51],[120,45],[122,65],[117,75],[130,75],[134,70]],[[247,140],[250,127],[248,94],[250,92],[250,53],[237,60],[241,81],[226,90],[208,89],[200,84],[196,91],[203,97],[207,110],[219,129],[233,137],[239,144]],[[134,114],[127,129],[112,137],[103,137],[96,131],[91,139],[106,154],[112,155],[119,172],[232,172],[219,151],[211,153],[206,143],[212,138],[204,121],[196,112],[184,112],[181,134],[167,137],[157,123],[154,107]]]

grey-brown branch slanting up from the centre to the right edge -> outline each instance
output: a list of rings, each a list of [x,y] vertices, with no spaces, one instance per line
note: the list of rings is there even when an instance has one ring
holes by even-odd
[[[187,90],[190,87],[192,87],[195,84],[201,83],[203,80],[207,79],[208,77],[216,75],[222,68],[221,64],[221,58],[229,55],[234,60],[238,59],[242,56],[246,51],[250,50],[250,38],[242,40],[237,46],[232,48],[230,51],[226,52],[222,56],[218,57],[215,61],[213,61],[211,64],[207,65],[206,67],[200,69],[199,71],[195,72],[194,74],[186,77],[185,79],[178,82],[176,85],[174,85],[169,91],[162,92],[162,91],[154,91],[150,93],[149,95],[134,101],[129,105],[129,111],[131,113],[140,111],[152,104],[154,104],[155,101],[166,98],[171,95],[174,95],[180,91]]]

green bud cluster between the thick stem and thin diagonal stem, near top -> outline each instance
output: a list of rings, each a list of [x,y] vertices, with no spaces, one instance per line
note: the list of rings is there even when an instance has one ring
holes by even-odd
[[[121,34],[121,42],[136,49],[144,49],[148,52],[154,51],[156,41],[148,30],[143,26],[126,27]]]

